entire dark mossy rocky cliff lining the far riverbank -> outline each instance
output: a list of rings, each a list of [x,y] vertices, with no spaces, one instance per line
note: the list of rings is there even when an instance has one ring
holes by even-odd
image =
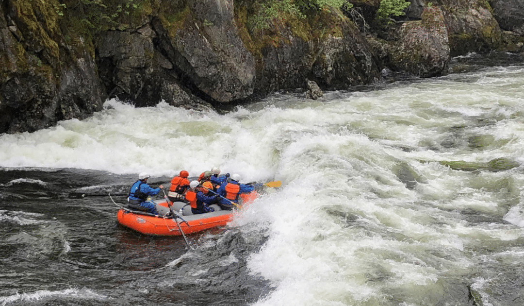
[[[347,89],[383,69],[433,77],[450,56],[522,52],[521,2],[491,3],[412,0],[384,30],[378,0],[263,27],[250,0],[4,0],[0,133],[86,118],[107,97],[220,110],[307,80]]]

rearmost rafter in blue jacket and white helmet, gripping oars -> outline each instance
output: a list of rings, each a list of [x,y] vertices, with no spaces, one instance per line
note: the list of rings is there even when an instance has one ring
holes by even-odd
[[[132,209],[159,215],[155,203],[147,201],[147,197],[157,195],[161,189],[163,189],[163,186],[160,185],[158,188],[151,188],[147,184],[149,177],[150,175],[145,172],[138,175],[138,181],[129,189],[129,196],[127,198],[128,206]]]

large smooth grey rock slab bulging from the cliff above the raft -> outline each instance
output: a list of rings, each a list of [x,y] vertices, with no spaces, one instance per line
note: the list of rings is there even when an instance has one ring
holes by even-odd
[[[255,59],[238,36],[233,1],[192,0],[183,27],[169,35],[172,62],[186,81],[217,102],[244,99],[255,86]],[[156,27],[158,31],[163,31]]]

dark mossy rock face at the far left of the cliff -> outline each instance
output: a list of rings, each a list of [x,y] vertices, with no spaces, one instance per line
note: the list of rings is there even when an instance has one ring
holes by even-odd
[[[0,133],[32,132],[102,110],[89,47],[61,33],[56,14],[47,2],[0,6]],[[61,40],[66,35],[74,46]]]

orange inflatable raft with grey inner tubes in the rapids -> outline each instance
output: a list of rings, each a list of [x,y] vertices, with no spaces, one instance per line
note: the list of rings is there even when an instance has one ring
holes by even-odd
[[[244,205],[258,196],[256,191],[241,194]],[[176,217],[162,217],[128,208],[121,208],[116,218],[118,223],[132,228],[144,235],[178,236],[196,233],[217,226],[226,225],[233,218],[232,210],[222,210],[218,205],[211,205],[214,212],[193,215],[191,207],[183,202],[174,202],[169,209],[166,200],[157,203],[157,210],[163,216],[172,211]]]

